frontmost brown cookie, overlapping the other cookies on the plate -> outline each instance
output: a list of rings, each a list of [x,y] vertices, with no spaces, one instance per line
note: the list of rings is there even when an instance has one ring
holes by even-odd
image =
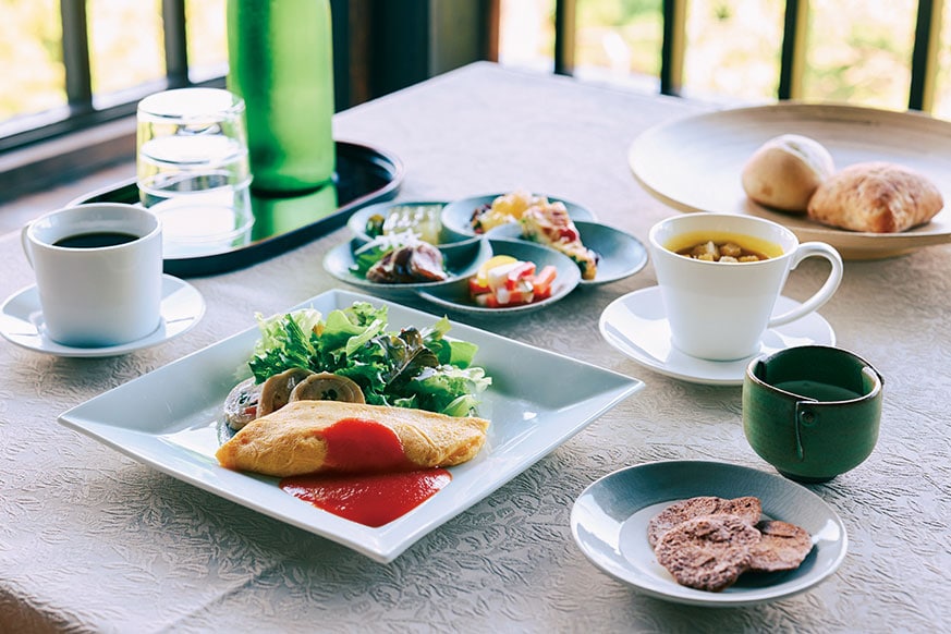
[[[702,515],[665,533],[655,552],[676,583],[717,593],[748,570],[759,540],[759,531],[736,515]]]

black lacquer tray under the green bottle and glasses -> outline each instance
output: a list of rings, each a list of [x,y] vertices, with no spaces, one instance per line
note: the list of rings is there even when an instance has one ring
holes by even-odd
[[[255,223],[249,242],[225,251],[172,257],[164,271],[178,277],[230,271],[290,251],[342,227],[351,214],[389,200],[403,182],[403,163],[395,156],[355,143],[337,142],[337,175],[332,185],[295,196],[252,194]],[[336,198],[334,198],[336,194]],[[71,203],[138,204],[135,179],[85,194]]]

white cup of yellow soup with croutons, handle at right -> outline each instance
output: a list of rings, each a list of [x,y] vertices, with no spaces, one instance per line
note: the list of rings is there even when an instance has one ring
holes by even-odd
[[[759,261],[721,263],[675,253],[712,240],[735,239],[768,256]],[[733,361],[760,351],[767,328],[818,309],[842,281],[842,258],[824,242],[800,244],[789,229],[753,216],[685,214],[650,229],[650,252],[675,348],[698,358]],[[822,286],[800,306],[772,317],[789,272],[807,257],[832,265]]]

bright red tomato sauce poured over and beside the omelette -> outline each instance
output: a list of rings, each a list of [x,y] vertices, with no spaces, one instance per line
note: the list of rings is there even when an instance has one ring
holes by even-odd
[[[436,495],[452,479],[444,468],[416,468],[400,437],[374,420],[343,418],[320,431],[333,473],[286,477],[288,493],[352,522],[378,527]]]

